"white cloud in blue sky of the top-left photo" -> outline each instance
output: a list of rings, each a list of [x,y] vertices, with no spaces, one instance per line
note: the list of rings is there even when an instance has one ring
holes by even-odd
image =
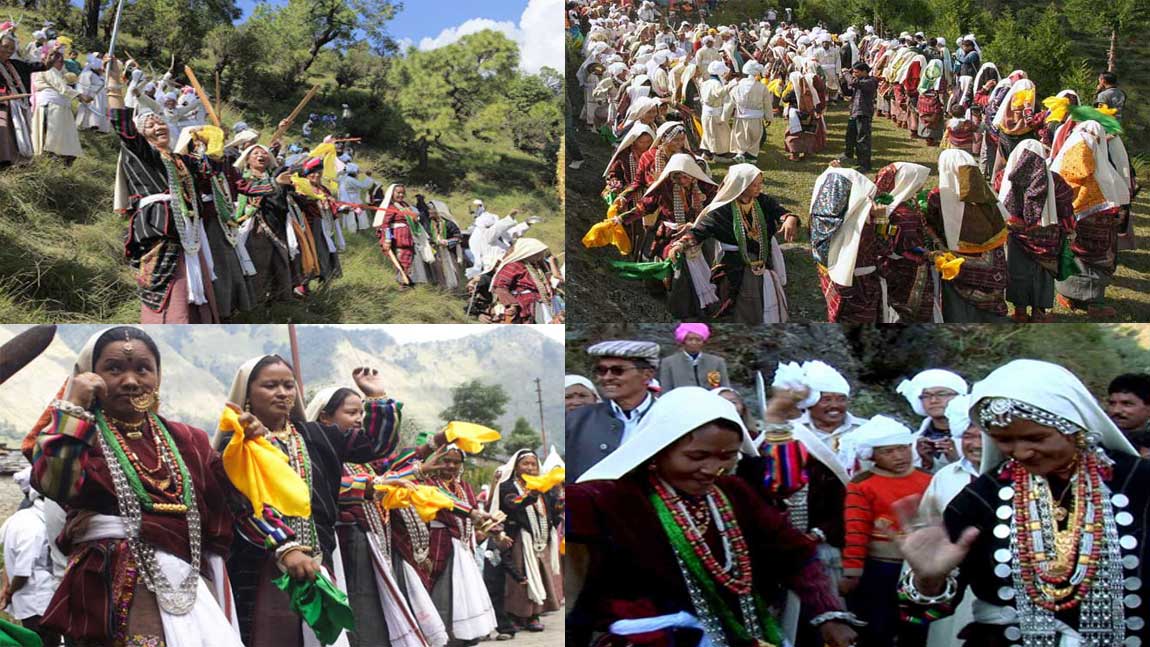
[[[562,71],[562,0],[529,0],[518,25],[511,21],[470,18],[440,31],[435,38],[420,39],[419,48],[435,49],[465,36],[491,29],[519,44],[519,66],[524,71],[535,74],[543,66]]]

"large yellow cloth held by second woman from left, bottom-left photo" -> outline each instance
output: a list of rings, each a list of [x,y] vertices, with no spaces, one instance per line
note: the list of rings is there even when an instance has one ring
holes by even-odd
[[[223,449],[223,471],[252,502],[256,515],[263,506],[271,506],[289,517],[312,516],[312,493],[283,452],[263,437],[245,440],[239,414],[231,408],[220,415],[220,429],[231,431]]]

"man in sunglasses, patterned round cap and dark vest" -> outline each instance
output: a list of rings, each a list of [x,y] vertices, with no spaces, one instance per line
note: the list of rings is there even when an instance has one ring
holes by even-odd
[[[653,341],[600,341],[586,353],[595,357],[591,372],[604,399],[567,414],[567,479],[572,483],[638,426],[654,403],[647,384],[659,368],[659,345]]]

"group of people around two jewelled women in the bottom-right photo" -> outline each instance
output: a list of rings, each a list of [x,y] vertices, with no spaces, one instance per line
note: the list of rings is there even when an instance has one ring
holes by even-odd
[[[1150,376],[1116,378],[1104,408],[1049,362],[973,386],[929,368],[895,388],[907,409],[865,418],[818,360],[770,367],[750,403],[718,371],[656,379],[708,355],[700,325],[668,356],[595,342],[595,382],[567,376],[568,645],[1150,637]]]

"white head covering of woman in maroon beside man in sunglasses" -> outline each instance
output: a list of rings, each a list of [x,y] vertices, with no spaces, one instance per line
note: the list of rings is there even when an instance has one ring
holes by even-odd
[[[742,452],[756,454],[733,402],[699,386],[681,386],[656,400],[627,442],[583,472],[576,483],[621,478],[689,432],[716,419],[738,425],[743,432]]]

